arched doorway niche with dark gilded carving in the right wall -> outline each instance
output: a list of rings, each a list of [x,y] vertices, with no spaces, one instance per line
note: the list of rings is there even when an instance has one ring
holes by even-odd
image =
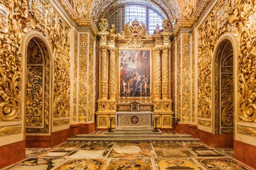
[[[217,49],[215,59],[215,133],[233,134],[233,46],[225,39]]]

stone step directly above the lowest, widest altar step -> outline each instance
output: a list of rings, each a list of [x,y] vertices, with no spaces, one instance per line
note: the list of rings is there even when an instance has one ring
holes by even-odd
[[[184,134],[80,134],[76,135],[76,138],[129,138],[129,137],[153,137],[153,138],[190,138],[191,135]]]

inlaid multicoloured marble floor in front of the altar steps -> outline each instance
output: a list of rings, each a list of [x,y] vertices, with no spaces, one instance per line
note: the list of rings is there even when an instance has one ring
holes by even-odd
[[[231,149],[201,142],[65,142],[51,149],[27,149],[11,170],[250,169]]]

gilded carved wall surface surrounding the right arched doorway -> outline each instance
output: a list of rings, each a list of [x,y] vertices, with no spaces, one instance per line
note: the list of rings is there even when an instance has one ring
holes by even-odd
[[[255,5],[253,1],[218,1],[199,28],[198,116],[210,117],[211,58],[218,38],[226,32],[239,42],[238,121],[255,123]]]

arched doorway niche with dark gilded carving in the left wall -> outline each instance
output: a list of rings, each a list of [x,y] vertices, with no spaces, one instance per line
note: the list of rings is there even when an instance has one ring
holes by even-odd
[[[50,58],[41,39],[26,47],[25,125],[26,135],[50,133]]]

